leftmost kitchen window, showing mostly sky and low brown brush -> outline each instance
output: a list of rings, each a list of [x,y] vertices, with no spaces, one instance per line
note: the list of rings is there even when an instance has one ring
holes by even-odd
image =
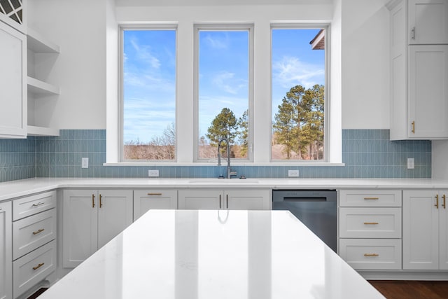
[[[176,27],[121,27],[123,162],[176,160]]]

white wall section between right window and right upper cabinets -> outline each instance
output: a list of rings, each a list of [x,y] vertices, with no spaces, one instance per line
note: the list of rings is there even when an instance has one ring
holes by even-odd
[[[342,128],[389,128],[388,0],[342,1]]]

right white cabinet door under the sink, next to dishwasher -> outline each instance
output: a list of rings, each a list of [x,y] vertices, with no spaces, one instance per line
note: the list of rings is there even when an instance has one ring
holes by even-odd
[[[228,190],[224,194],[224,209],[269,210],[269,190]]]

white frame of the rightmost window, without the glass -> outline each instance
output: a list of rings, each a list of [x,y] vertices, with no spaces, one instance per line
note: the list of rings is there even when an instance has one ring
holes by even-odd
[[[324,118],[323,118],[323,160],[278,160],[272,159],[272,32],[274,29],[323,29],[325,32],[325,104],[324,104]],[[269,141],[271,146],[269,147],[269,163],[328,163],[330,158],[330,24],[328,23],[307,23],[307,24],[297,24],[297,23],[271,23],[269,27],[269,39],[270,39],[270,132],[269,132]]]

